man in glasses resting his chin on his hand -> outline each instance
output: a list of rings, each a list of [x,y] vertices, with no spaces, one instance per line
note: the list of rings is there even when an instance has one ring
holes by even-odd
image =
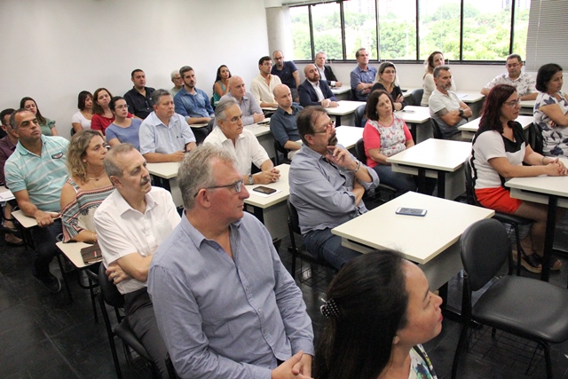
[[[367,212],[363,195],[379,185],[379,178],[337,145],[334,123],[323,107],[304,108],[296,123],[304,145],[290,165],[289,199],[307,249],[340,269],[359,253],[343,247],[331,229]]]

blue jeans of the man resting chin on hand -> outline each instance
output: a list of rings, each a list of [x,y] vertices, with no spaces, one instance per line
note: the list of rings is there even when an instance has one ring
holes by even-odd
[[[305,234],[304,244],[312,255],[325,260],[337,270],[351,259],[361,255],[355,250],[342,246],[341,237],[332,234],[331,229],[316,230]]]

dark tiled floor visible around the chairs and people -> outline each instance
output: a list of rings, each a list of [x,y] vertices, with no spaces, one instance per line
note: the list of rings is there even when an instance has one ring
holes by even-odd
[[[556,240],[561,247],[568,246],[568,227],[560,228]],[[70,303],[65,291],[51,294],[31,275],[31,251],[23,248],[8,248],[0,238],[0,377],[2,378],[115,378],[114,365],[102,319],[95,323],[89,292],[80,288],[76,275],[71,281],[74,302]],[[291,260],[288,241],[282,241],[280,256],[287,267]],[[568,261],[562,258],[562,272],[552,274],[551,281],[565,287]],[[304,269],[310,268],[304,264]],[[296,278],[302,276],[297,270]],[[52,272],[60,276],[54,261]],[[320,298],[333,276],[333,272],[314,268],[317,280],[308,279],[299,283],[304,293],[308,312],[312,317],[316,336],[323,325],[319,313]],[[524,275],[530,275],[523,271]],[[458,278],[449,287],[449,303],[459,306],[461,284]],[[100,311],[99,311],[100,315]],[[455,346],[460,326],[453,320],[444,320],[440,336],[426,344],[427,351],[436,368],[438,377],[449,378],[454,359]],[[545,375],[543,359],[525,375],[527,361],[534,347],[525,346],[526,341],[510,341],[508,336],[498,334],[496,342],[491,333],[477,330],[469,353],[461,359],[460,378],[542,378]],[[521,346],[519,348],[519,346]],[[121,344],[117,343],[119,359],[125,378],[151,377],[150,370],[141,360],[128,366]],[[527,358],[517,359],[522,352]],[[527,352],[528,351],[528,352]],[[568,343],[552,348],[555,378],[568,378]],[[539,353],[537,352],[537,355]]]

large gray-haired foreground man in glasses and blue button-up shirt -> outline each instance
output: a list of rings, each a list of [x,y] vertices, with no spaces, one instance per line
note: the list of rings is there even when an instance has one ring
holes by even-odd
[[[158,328],[180,377],[306,379],[312,321],[270,233],[244,212],[237,166],[204,144],[179,168],[185,217],[148,277]]]

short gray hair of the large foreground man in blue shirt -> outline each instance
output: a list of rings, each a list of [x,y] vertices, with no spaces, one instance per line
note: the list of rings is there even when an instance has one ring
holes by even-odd
[[[203,144],[195,147],[191,153],[185,154],[184,160],[177,170],[177,182],[185,209],[192,209],[195,194],[201,188],[215,186],[212,161],[217,158],[236,166],[233,154],[217,145]]]

